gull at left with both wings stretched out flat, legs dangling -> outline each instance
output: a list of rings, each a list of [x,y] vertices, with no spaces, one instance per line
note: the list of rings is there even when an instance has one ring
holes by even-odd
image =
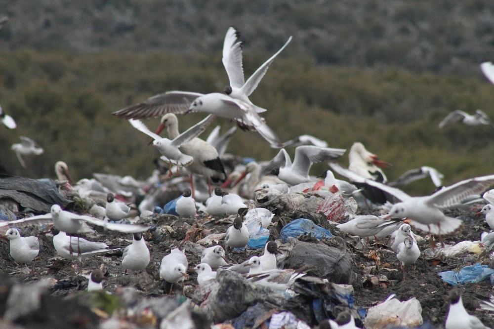
[[[53,222],[55,228],[57,228],[60,231],[66,232],[69,235],[93,232],[93,229],[91,229],[87,224],[101,226],[108,230],[118,231],[122,233],[139,233],[150,229],[150,226],[147,225],[140,225],[140,224],[128,225],[128,224],[120,224],[120,223],[110,223],[103,220],[99,220],[91,216],[78,215],[73,212],[62,210],[62,208],[59,205],[51,206],[50,213],[44,215],[27,217],[23,219],[8,221],[8,222],[0,222],[0,227],[11,226],[11,225],[20,226],[20,225],[29,225],[29,224],[41,224],[41,223],[49,223],[49,222]],[[81,254],[79,240],[80,238],[78,237],[77,251],[78,254]],[[72,248],[72,243],[70,244],[70,247]],[[73,250],[70,251],[73,252]]]

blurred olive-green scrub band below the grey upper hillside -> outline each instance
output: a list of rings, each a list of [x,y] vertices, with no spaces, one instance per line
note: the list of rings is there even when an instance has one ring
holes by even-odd
[[[244,56],[248,76],[267,53]],[[93,172],[146,178],[159,153],[146,136],[111,115],[127,105],[167,90],[220,91],[228,80],[219,52],[178,55],[164,52],[68,54],[19,50],[0,52],[0,104],[18,127],[0,126],[1,164],[11,173],[54,177],[54,164],[69,164],[74,178]],[[331,147],[361,141],[393,163],[390,179],[421,165],[446,175],[445,183],[492,173],[492,127],[437,124],[454,109],[488,114],[494,86],[486,79],[412,74],[399,68],[366,69],[316,66],[298,58],[280,58],[251,95],[267,108],[267,123],[282,140],[312,134]],[[181,129],[204,118],[179,116]],[[146,122],[151,129],[158,119]],[[218,118],[223,129],[232,123]],[[202,137],[206,138],[207,135]],[[24,135],[45,152],[26,159],[22,169],[12,143]],[[238,131],[229,151],[259,161],[277,153],[252,132]],[[292,150],[289,150],[292,153]],[[347,164],[347,157],[341,160]],[[319,164],[314,173],[323,171]],[[430,193],[432,183],[413,184],[413,193]]]

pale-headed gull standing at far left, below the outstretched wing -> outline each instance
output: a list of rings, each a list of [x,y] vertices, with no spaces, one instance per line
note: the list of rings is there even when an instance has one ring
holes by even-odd
[[[29,263],[38,256],[40,242],[37,237],[21,237],[15,228],[8,229],[5,237],[9,240],[10,256],[21,264],[21,270],[23,264]]]

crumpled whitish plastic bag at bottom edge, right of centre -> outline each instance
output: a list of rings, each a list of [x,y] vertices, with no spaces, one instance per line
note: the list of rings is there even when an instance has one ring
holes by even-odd
[[[407,301],[388,298],[385,302],[367,311],[364,323],[367,329],[380,329],[388,326],[417,327],[423,323],[422,307],[415,297]]]

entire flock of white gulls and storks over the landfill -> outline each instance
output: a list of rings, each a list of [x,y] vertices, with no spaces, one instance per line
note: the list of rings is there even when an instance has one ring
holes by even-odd
[[[439,247],[435,243],[436,237],[442,242],[444,236],[453,234],[463,224],[461,218],[450,217],[445,214],[445,210],[463,206],[475,198],[479,202],[480,195],[494,185],[494,175],[485,175],[443,187],[444,175],[427,165],[411,169],[396,181],[388,182],[384,170],[390,164],[368,151],[361,142],[355,142],[348,150],[348,167],[333,162],[343,156],[346,149],[330,148],[327,142],[317,137],[301,135],[282,143],[261,117],[267,110],[254,105],[248,96],[256,89],[268,67],[288,46],[291,39],[289,37],[288,41],[245,81],[242,41],[239,32],[235,28],[229,28],[223,44],[222,62],[230,85],[223,93],[167,91],[113,113],[116,117],[128,120],[134,128],[149,136],[153,146],[161,154],[160,159],[165,164],[165,170],[153,176],[153,179],[150,179],[152,183],[148,185],[165,186],[166,182],[173,180],[184,182],[183,177],[187,177],[187,186],[182,188],[181,195],[174,204],[174,211],[179,217],[198,218],[205,214],[209,219],[221,218],[229,223],[226,232],[221,232],[221,242],[204,248],[200,263],[194,264],[193,267],[189,267],[187,254],[179,242],[163,257],[159,266],[159,277],[171,284],[168,293],[172,293],[173,284],[181,284],[185,289],[190,271],[197,273],[199,287],[210,286],[216,281],[219,271],[234,271],[254,285],[279,291],[291,288],[297,280],[307,276],[306,271],[301,269],[278,268],[277,256],[281,253],[279,241],[267,241],[262,255],[254,255],[239,264],[227,262],[226,252],[244,252],[244,248],[253,237],[257,237],[256,235],[267,232],[265,234],[269,236],[269,228],[277,220],[276,213],[265,207],[256,207],[255,200],[258,200],[260,193],[273,197],[319,191],[324,198],[340,193],[345,202],[356,200],[355,204],[362,214],[356,215],[355,210],[349,211],[345,216],[345,222],[334,223],[337,224],[335,229],[350,236],[367,238],[366,244],[369,248],[369,239],[373,238],[376,246],[379,240],[387,239],[387,243],[382,246],[396,253],[397,262],[403,271],[403,281],[406,281],[406,277],[410,276],[410,271],[407,272],[406,268],[413,266],[421,256],[421,250],[417,245],[417,239],[421,239],[418,233],[427,234],[431,246]],[[494,83],[493,64],[483,63],[481,70],[487,79]],[[189,112],[204,112],[208,115],[180,133],[177,115]],[[162,118],[156,132],[151,131],[141,121],[160,116]],[[199,138],[217,117],[235,121],[243,130],[259,133],[272,148],[280,149],[279,153],[273,159],[262,163],[250,161],[227,165],[225,150],[235,128],[220,136],[218,127],[207,140]],[[0,119],[6,127],[15,128],[14,120],[2,112],[1,108]],[[456,110],[441,121],[439,127],[458,121],[468,125],[491,124],[481,110],[477,110],[473,116]],[[168,138],[160,136],[165,128]],[[39,155],[43,150],[33,140],[23,136],[20,138],[22,143],[12,145],[12,150],[25,167],[21,156]],[[288,147],[295,147],[293,161],[285,149]],[[310,175],[312,164],[321,162],[329,162],[332,169],[326,171],[323,180]],[[105,203],[105,207],[99,209],[104,219],[90,214],[78,214],[54,204],[49,213],[1,221],[0,227],[9,227],[5,232],[5,238],[9,241],[10,256],[21,265],[20,270],[22,271],[24,264],[31,263],[40,250],[38,238],[21,237],[20,228],[46,223],[52,224],[52,227],[43,233],[53,235],[53,245],[58,255],[71,261],[78,260],[81,267],[83,260],[88,257],[123,249],[123,275],[136,276],[140,271],[146,270],[152,254],[145,241],[145,233],[151,230],[152,226],[129,220],[132,207],[117,200],[117,194],[119,198],[125,198],[125,192],[119,193],[120,191],[117,192],[114,188],[105,187],[104,184],[89,179],[82,179],[74,184],[67,172],[67,164],[63,162],[56,164],[55,171],[60,180],[68,182],[69,185],[65,189],[71,190],[77,198]],[[344,179],[336,179],[333,171]],[[438,188],[428,196],[412,197],[398,188],[426,177],[430,177]],[[214,186],[211,186],[211,183]],[[65,193],[66,190],[62,192]],[[160,192],[160,189],[155,188],[155,191]],[[163,193],[163,190],[161,192]],[[491,229],[494,229],[493,194],[492,191],[484,194],[488,204],[477,213],[485,215]],[[149,214],[156,206],[164,206],[157,202],[156,194],[143,192],[143,195],[144,200],[136,205],[141,216]],[[481,200],[485,203],[484,199]],[[367,210],[369,213],[366,214]],[[371,211],[380,211],[380,215],[370,214]],[[131,234],[132,243],[126,247],[108,246],[81,237],[94,233],[95,228],[115,231],[118,234]],[[418,230],[416,234],[412,232],[412,228]],[[492,241],[492,245],[494,238],[489,237],[489,240],[487,236],[489,234],[485,232],[482,241],[485,241],[485,245]],[[87,289],[103,289],[103,282],[107,279],[105,273],[94,269],[88,279]],[[185,290],[183,293],[185,294]],[[451,289],[448,299],[450,311],[445,323],[447,329],[487,328],[483,327],[476,317],[466,312],[459,289]],[[342,311],[334,320],[322,321],[319,328],[357,328],[355,316],[356,314],[350,311]]]

